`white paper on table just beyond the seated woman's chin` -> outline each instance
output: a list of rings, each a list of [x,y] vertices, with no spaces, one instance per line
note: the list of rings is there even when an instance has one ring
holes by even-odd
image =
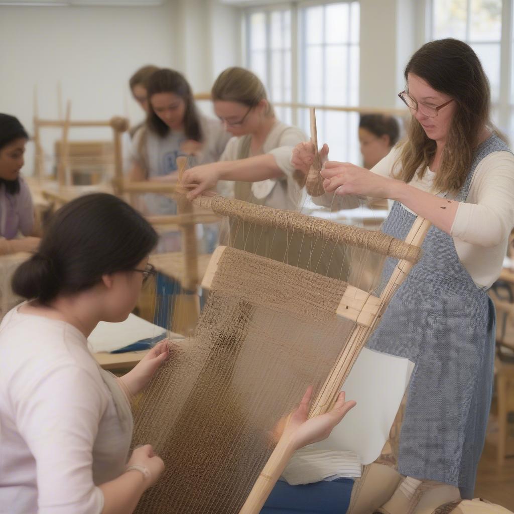
[[[92,352],[112,352],[123,346],[166,334],[164,328],[154,325],[134,314],[129,314],[125,321],[107,323],[101,321],[87,338]]]

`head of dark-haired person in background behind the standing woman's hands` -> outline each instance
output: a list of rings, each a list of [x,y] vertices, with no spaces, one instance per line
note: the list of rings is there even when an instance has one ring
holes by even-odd
[[[363,114],[359,121],[360,153],[364,168],[371,170],[398,142],[400,127],[393,116]]]

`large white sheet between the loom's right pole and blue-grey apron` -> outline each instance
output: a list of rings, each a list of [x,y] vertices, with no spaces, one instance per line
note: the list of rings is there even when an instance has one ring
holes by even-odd
[[[408,359],[364,348],[341,388],[357,405],[315,446],[351,450],[369,464],[380,455],[414,369]]]

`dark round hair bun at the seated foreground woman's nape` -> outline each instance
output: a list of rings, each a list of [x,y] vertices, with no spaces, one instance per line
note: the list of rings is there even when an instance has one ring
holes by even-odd
[[[50,259],[34,253],[14,272],[12,290],[23,298],[37,298],[43,303],[54,297],[59,290],[59,283]]]

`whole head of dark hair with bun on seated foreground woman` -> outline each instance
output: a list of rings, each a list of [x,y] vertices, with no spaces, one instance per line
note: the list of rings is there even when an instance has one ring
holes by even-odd
[[[116,196],[81,196],[54,214],[38,252],[14,273],[12,289],[41,303],[84,291],[104,274],[134,269],[157,239],[152,226]]]

